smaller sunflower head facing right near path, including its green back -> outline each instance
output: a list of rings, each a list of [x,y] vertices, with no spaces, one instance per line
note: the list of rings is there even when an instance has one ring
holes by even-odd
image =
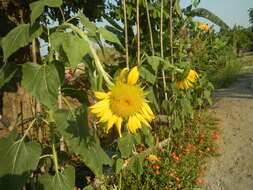
[[[183,73],[176,76],[176,87],[179,89],[187,89],[192,87],[193,83],[199,78],[198,73],[192,69],[186,69]]]

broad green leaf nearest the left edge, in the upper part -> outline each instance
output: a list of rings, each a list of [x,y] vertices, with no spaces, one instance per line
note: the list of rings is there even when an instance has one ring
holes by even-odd
[[[41,35],[42,32],[43,28],[39,25],[20,24],[13,28],[2,39],[4,61],[6,62],[11,54],[26,46],[32,39]]]

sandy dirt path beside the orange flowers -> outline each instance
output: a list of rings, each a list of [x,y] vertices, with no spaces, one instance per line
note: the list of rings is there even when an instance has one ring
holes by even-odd
[[[221,119],[221,156],[208,162],[202,190],[253,190],[253,74],[216,92],[211,110]]]

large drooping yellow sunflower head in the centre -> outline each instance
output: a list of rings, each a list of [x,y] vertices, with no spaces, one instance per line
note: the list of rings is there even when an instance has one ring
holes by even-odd
[[[129,131],[136,133],[141,124],[150,127],[149,122],[154,119],[143,89],[136,84],[139,78],[137,67],[132,68],[126,78],[127,71],[125,68],[120,72],[109,92],[95,92],[99,101],[90,107],[91,112],[100,118],[98,123],[107,123],[107,132],[116,125],[120,137],[123,120],[127,121]]]

